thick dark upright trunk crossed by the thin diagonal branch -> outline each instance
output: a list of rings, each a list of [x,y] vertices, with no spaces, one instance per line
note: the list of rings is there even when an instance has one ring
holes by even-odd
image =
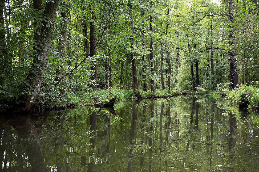
[[[91,19],[90,19],[90,56],[95,59],[96,56],[96,36],[95,36],[95,5],[92,5],[92,7],[90,6],[90,9],[92,9],[92,11],[90,12],[91,14]],[[93,71],[93,75],[91,76],[91,79],[94,80],[93,84],[92,84],[92,88],[93,90],[97,90],[97,61],[94,60],[92,62],[92,67],[91,70]]]

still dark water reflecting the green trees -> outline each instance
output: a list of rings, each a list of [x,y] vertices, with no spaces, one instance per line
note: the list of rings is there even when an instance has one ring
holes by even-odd
[[[259,171],[259,117],[226,103],[177,97],[1,118],[2,171]]]

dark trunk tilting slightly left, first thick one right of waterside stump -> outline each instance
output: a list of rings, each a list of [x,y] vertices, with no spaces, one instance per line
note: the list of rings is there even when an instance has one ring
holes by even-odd
[[[131,48],[133,48],[134,45],[134,38],[133,38],[133,17],[132,17],[132,5],[128,3],[130,7],[130,17],[131,21],[129,22],[130,28],[131,28]],[[133,53],[131,53],[131,67],[132,67],[132,89],[133,92],[135,93],[136,90],[138,89],[138,78],[136,76],[136,61],[135,58],[133,57]]]

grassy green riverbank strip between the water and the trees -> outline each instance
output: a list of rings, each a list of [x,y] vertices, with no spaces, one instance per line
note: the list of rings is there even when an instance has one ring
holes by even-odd
[[[155,98],[168,98],[177,95],[222,95],[229,101],[230,104],[243,105],[245,108],[251,110],[259,109],[259,87],[256,86],[245,86],[238,85],[237,88],[230,89],[226,84],[218,85],[215,90],[203,90],[197,89],[196,92],[181,92],[178,93],[175,90],[163,90],[156,89],[155,94],[151,90],[144,92],[143,90],[137,90],[136,94],[133,90],[124,89],[109,89],[109,96],[107,89],[99,89],[96,91],[86,92],[68,92],[63,95],[63,98],[59,99],[48,99],[45,103],[36,101],[32,106],[30,112],[38,112],[43,110],[62,110],[69,107],[82,107],[82,106],[100,106],[108,103],[112,98],[116,97],[117,100],[128,100],[128,99],[155,99]],[[246,94],[251,90],[251,96],[246,98]],[[243,99],[242,99],[243,97]],[[245,101],[244,101],[245,98]],[[61,100],[61,101],[60,101]],[[2,112],[6,110],[2,109]],[[9,109],[11,112],[11,108]]]

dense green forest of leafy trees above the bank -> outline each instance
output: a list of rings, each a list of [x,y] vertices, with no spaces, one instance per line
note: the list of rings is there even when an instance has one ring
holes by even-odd
[[[139,97],[258,88],[258,8],[257,0],[1,0],[1,110],[119,97],[115,89]]]

